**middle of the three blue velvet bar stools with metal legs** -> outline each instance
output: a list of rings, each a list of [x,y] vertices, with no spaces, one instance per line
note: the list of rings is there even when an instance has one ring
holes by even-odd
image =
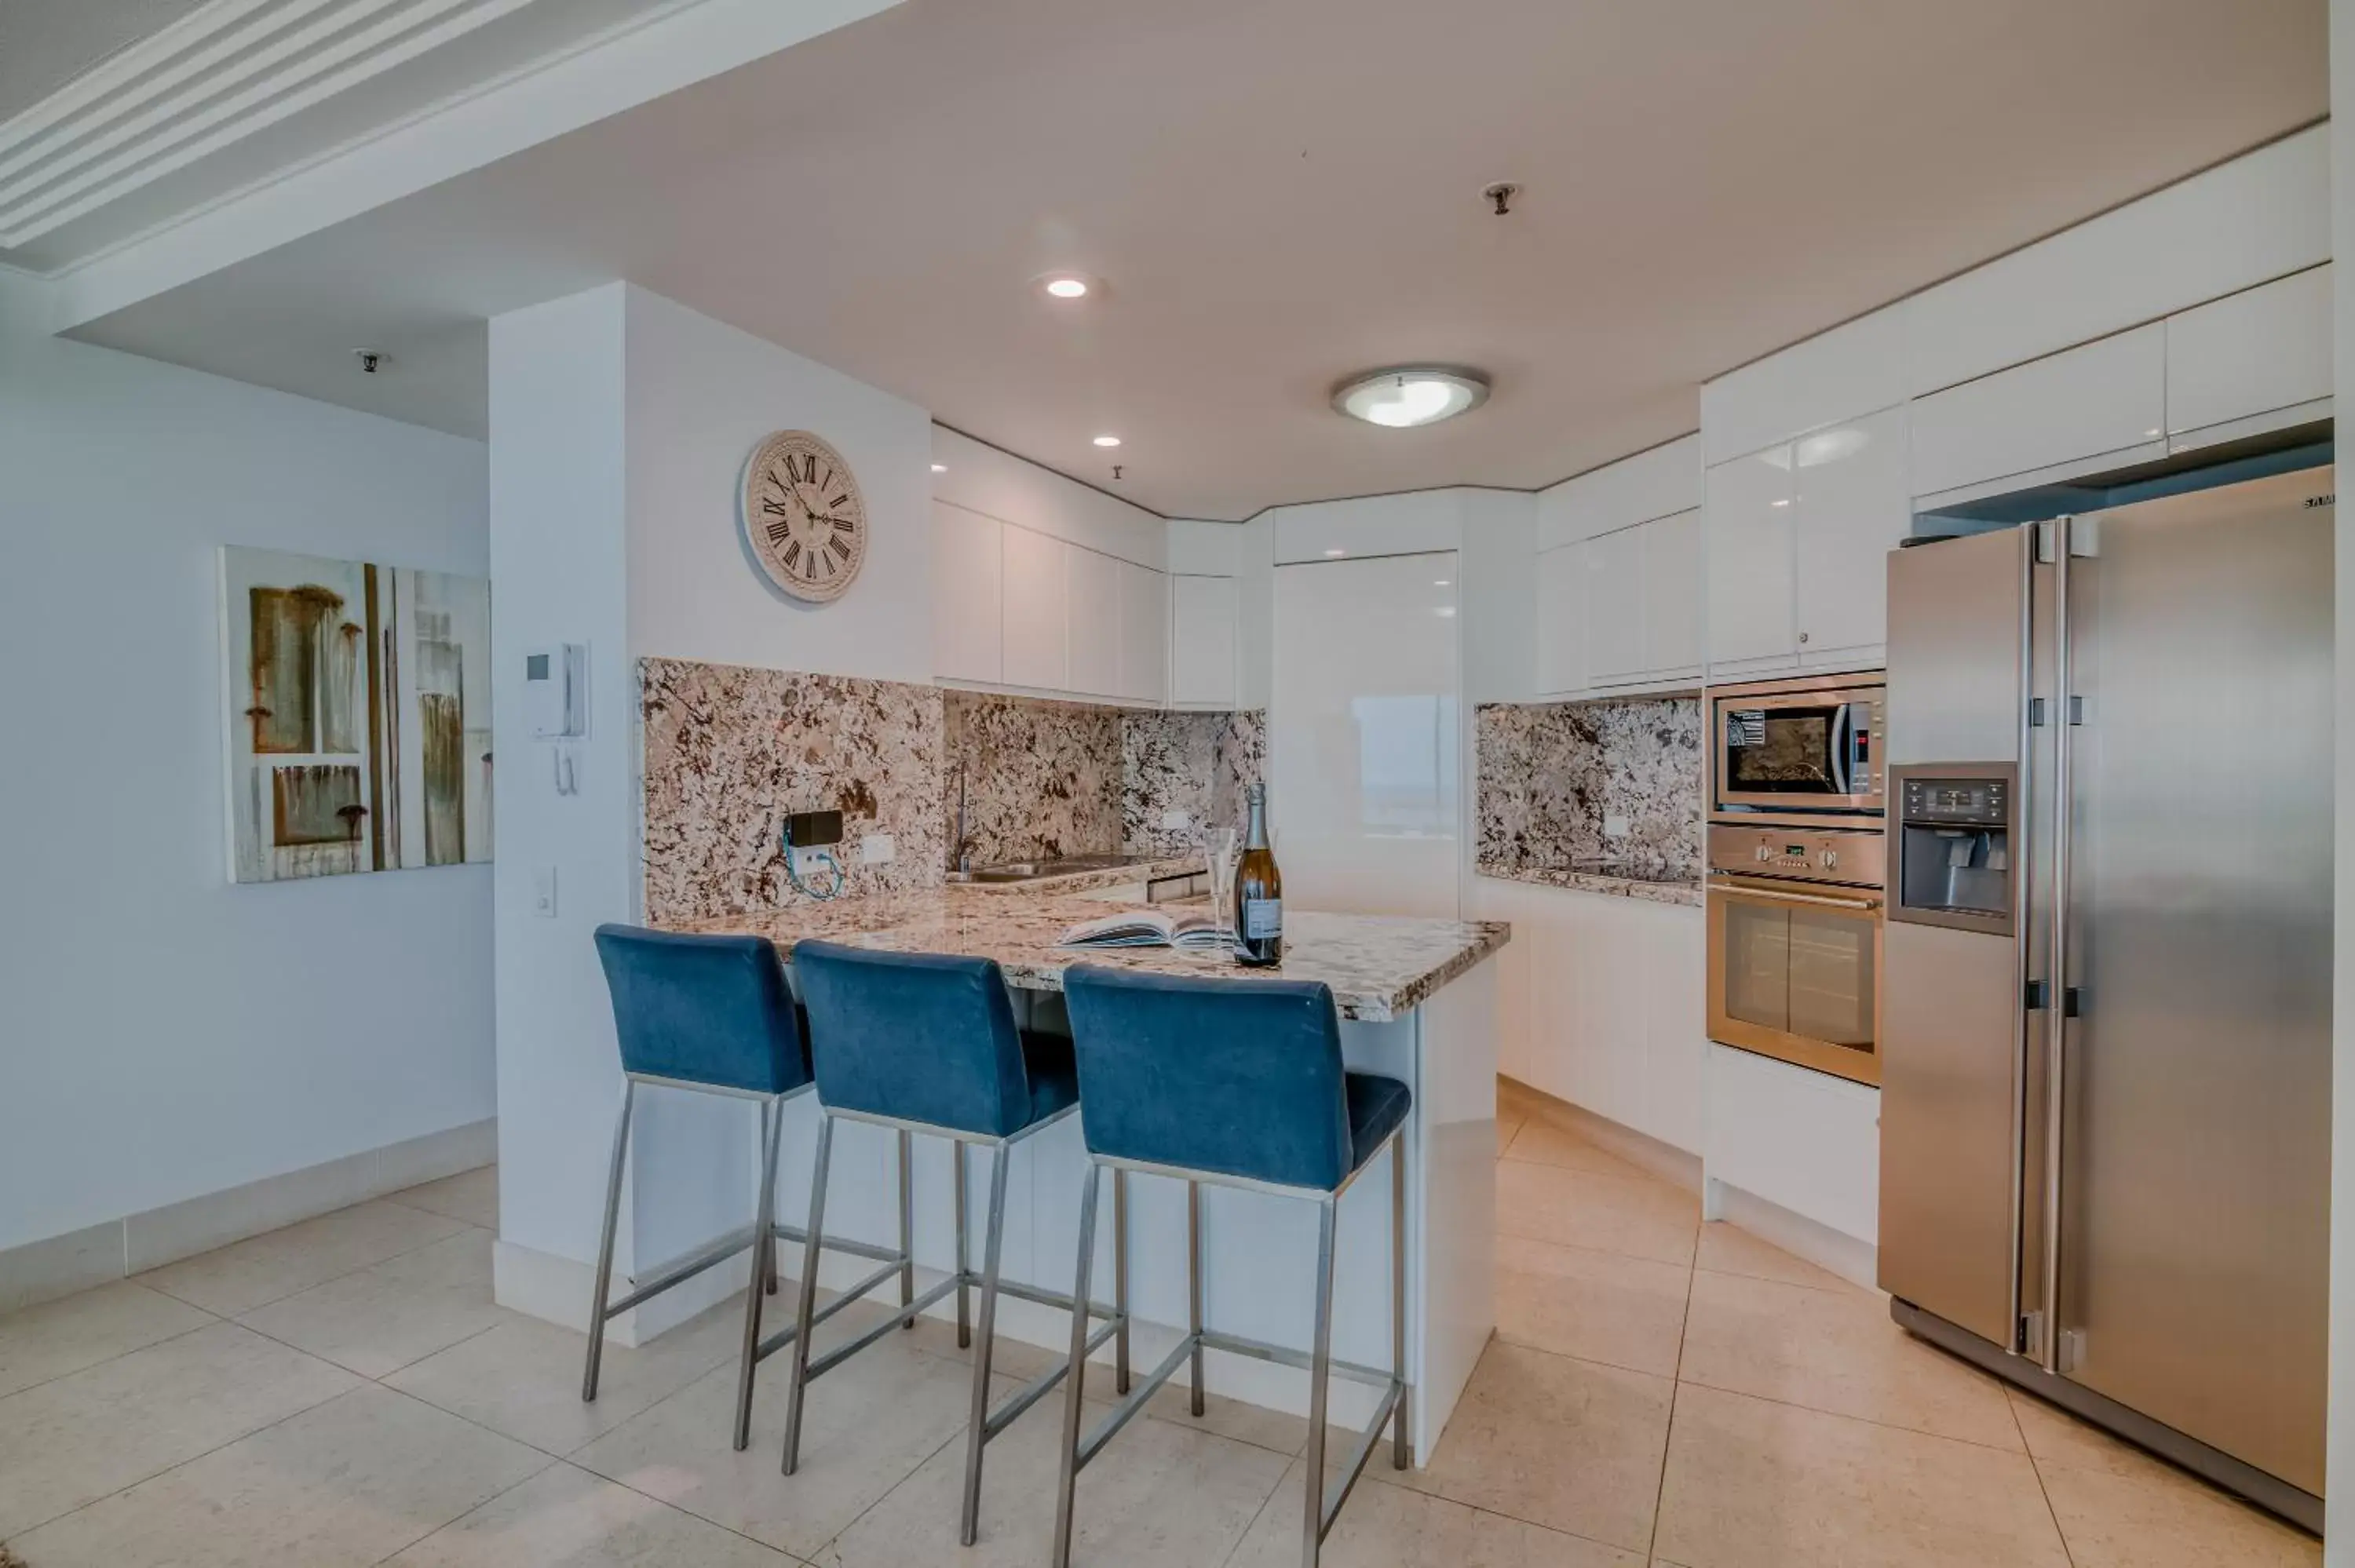
[[[1086,1278],[1072,1295],[999,1278],[999,1255],[1006,1241],[1006,1175],[1013,1147],[1055,1125],[1079,1109],[1079,1083],[1072,1071],[1072,1041],[1015,1024],[1006,975],[989,958],[954,958],[944,954],[885,954],[831,942],[794,946],[794,982],[810,1010],[810,1059],[817,1071],[817,1180],[810,1184],[808,1234],[817,1236],[827,1217],[827,1165],[834,1151],[836,1121],[864,1121],[895,1128],[900,1137],[926,1132],[947,1137],[956,1161],[956,1271],[867,1333],[822,1356],[810,1351],[810,1328],[817,1323],[815,1248],[801,1269],[801,1335],[794,1342],[794,1382],[784,1415],[784,1474],[801,1462],[801,1410],[810,1382],[867,1349],[900,1323],[956,1293],[958,1344],[968,1344],[968,1290],[980,1285],[980,1351],[973,1358],[973,1415],[966,1422],[966,1493],[961,1540],[970,1547],[980,1530],[982,1448],[1006,1431],[1024,1410],[1039,1403],[1064,1375],[1062,1366],[989,1408],[989,1361],[994,1349],[999,1295],[1013,1295],[1072,1314],[1072,1337],[1088,1349],[1109,1337],[1121,1340],[1126,1361],[1128,1300],[1126,1288],[1107,1309],[1088,1302]],[[989,1163],[989,1222],[982,1241],[982,1269],[975,1274],[966,1253],[966,1151],[973,1144],[994,1149]],[[836,1297],[834,1304],[864,1295],[881,1278],[869,1278]],[[1083,1302],[1083,1304],[1081,1304]],[[1104,1318],[1100,1328],[1090,1328]]]

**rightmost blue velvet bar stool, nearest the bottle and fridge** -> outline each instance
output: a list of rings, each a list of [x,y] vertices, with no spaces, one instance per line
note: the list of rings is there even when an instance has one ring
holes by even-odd
[[[1062,1490],[1055,1500],[1055,1568],[1072,1563],[1079,1471],[1104,1450],[1154,1391],[1192,1363],[1201,1415],[1201,1354],[1225,1349],[1309,1375],[1309,1446],[1300,1561],[1316,1568],[1368,1455],[1392,1424],[1392,1464],[1406,1469],[1406,1114],[1397,1078],[1345,1071],[1331,986],[1307,979],[1194,979],[1095,965],[1064,972],[1079,1057],[1088,1189],[1079,1210],[1076,1293],[1095,1255],[1095,1198],[1104,1170],[1187,1184],[1187,1337],[1081,1439],[1090,1347],[1072,1335],[1064,1387]],[[1333,1231],[1340,1196],[1389,1149],[1389,1370],[1333,1358]],[[1302,1198],[1316,1205],[1314,1351],[1300,1354],[1201,1321],[1201,1184]],[[1373,1422],[1331,1488],[1324,1476],[1326,1387],[1333,1375],[1382,1389]]]

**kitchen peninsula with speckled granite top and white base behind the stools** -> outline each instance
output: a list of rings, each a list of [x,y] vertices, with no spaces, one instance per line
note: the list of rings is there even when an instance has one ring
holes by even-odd
[[[928,888],[897,895],[796,904],[761,913],[676,921],[674,930],[751,932],[791,961],[803,937],[893,951],[994,958],[1006,970],[1017,1010],[1057,1017],[1062,972],[1100,963],[1175,975],[1239,979],[1321,979],[1342,1017],[1342,1052],[1352,1069],[1389,1074],[1413,1088],[1408,1121],[1408,1380],[1415,1462],[1432,1455],[1493,1328],[1491,1236],[1495,1210],[1495,965],[1484,963],[1510,939],[1498,923],[1418,921],[1293,911],[1283,965],[1246,970],[1222,954],[1170,949],[1072,951],[1057,937],[1104,913],[1095,899],[1057,892],[1008,897],[980,888]],[[808,1107],[801,1107],[808,1114]],[[1083,1111],[1086,1114],[1086,1111]],[[796,1125],[787,1137],[808,1147]],[[937,1140],[926,1140],[937,1142]],[[1086,1154],[1079,1125],[1050,1128],[1015,1151],[1006,1234],[1006,1278],[1069,1288],[1079,1236]],[[843,1125],[829,1196],[829,1231],[890,1241],[897,1212],[890,1135]],[[916,1253],[935,1276],[947,1271],[949,1151],[923,1149],[916,1163]],[[794,1182],[787,1187],[791,1201]],[[864,1189],[864,1191],[860,1191]],[[1345,1201],[1335,1255],[1333,1354],[1361,1366],[1389,1363],[1389,1205],[1387,1180]],[[977,1198],[977,1191],[973,1194]],[[968,1198],[968,1201],[973,1201]],[[791,1215],[791,1208],[780,1210]],[[1137,1177],[1128,1203],[1130,1309],[1135,1361],[1152,1366],[1178,1342],[1185,1300],[1185,1189]],[[869,1234],[871,1231],[871,1234]],[[975,1215],[975,1234],[980,1217]],[[1100,1241],[1097,1278],[1112,1274],[1112,1236]],[[1309,1205],[1253,1191],[1203,1189],[1203,1307],[1225,1333],[1307,1349],[1314,1302],[1316,1217]],[[845,1274],[848,1278],[848,1274]],[[827,1276],[829,1285],[843,1283]],[[1104,1290],[1109,1295],[1109,1288]],[[1062,1314],[1006,1300],[999,1333],[1060,1349]],[[1305,1413],[1298,1373],[1210,1354],[1210,1389],[1232,1398]],[[1361,1389],[1335,1382],[1335,1420],[1364,1420]]]

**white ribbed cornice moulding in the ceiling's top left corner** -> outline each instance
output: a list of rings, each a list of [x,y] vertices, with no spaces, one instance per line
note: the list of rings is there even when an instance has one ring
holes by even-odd
[[[539,0],[210,0],[0,125],[0,247]]]

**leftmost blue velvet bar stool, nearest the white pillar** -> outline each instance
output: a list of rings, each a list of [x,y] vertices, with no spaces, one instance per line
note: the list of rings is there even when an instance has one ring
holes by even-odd
[[[751,1281],[744,1293],[744,1354],[737,1368],[735,1410],[735,1446],[744,1448],[751,1441],[754,1368],[801,1333],[796,1323],[761,1340],[761,1300],[777,1288],[777,1241],[808,1241],[803,1231],[777,1224],[775,1217],[784,1102],[812,1088],[808,1034],[787,989],[777,949],[761,937],[690,937],[636,925],[598,925],[596,954],[605,965],[615,1036],[622,1043],[622,1111],[612,1125],[612,1165],[605,1175],[605,1231],[596,1253],[582,1398],[596,1398],[605,1323],[749,1248]],[[629,1158],[629,1123],[641,1085],[754,1102],[761,1109],[761,1191],[751,1224],[671,1264],[657,1264],[652,1278],[615,1302],[610,1300],[612,1241],[622,1220],[622,1168]],[[904,1189],[904,1144],[900,1180]],[[841,1238],[824,1245],[890,1260],[895,1271],[914,1281],[904,1203],[897,1250]],[[817,1316],[827,1318],[834,1309],[836,1304],[829,1304]]]

